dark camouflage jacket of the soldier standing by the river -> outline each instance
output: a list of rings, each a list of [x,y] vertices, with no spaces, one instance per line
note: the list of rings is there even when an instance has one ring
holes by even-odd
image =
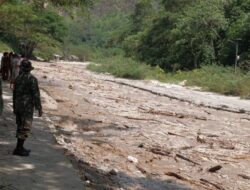
[[[14,82],[14,113],[33,117],[34,108],[42,109],[37,79],[30,73],[21,73]]]

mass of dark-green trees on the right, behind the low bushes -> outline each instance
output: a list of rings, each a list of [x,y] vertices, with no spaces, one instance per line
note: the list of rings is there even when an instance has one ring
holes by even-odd
[[[134,18],[148,20],[147,15],[152,13],[145,12],[153,2],[138,2],[136,7],[143,10],[136,9],[133,26],[138,25]],[[245,62],[249,54],[249,3],[243,0],[163,0],[160,16],[148,21],[146,27],[137,27],[138,31],[131,29],[132,34],[124,41],[125,50],[128,55],[132,53],[165,70],[194,69],[213,63],[233,65],[235,40],[241,38],[240,61]]]

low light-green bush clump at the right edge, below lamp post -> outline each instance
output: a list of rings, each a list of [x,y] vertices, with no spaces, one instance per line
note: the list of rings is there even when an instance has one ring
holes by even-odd
[[[232,67],[207,65],[193,71],[168,74],[171,81],[187,80],[189,86],[199,86],[204,90],[225,95],[248,97],[250,95],[250,72],[244,74],[238,70],[235,74]]]

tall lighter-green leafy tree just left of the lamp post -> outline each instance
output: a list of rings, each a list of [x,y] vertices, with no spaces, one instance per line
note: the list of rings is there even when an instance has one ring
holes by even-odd
[[[218,48],[221,33],[227,29],[224,16],[225,1],[209,0],[196,2],[178,19],[175,29],[175,46],[186,49],[191,57],[190,68],[197,68],[201,63],[214,63],[218,60]],[[184,46],[183,46],[184,44]],[[178,53],[178,52],[174,52]],[[184,60],[187,56],[182,55]]]

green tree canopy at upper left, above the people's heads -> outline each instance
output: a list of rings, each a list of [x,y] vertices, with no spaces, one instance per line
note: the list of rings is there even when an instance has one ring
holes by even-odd
[[[49,11],[35,11],[31,5],[5,4],[0,15],[5,15],[0,26],[2,38],[28,57],[38,45],[57,46],[66,34],[60,16]]]

